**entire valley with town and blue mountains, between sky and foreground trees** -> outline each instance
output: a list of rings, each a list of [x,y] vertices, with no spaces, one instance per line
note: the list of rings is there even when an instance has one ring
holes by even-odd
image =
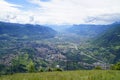
[[[59,64],[73,70],[92,69],[95,63],[114,64],[120,59],[120,23],[54,29],[0,22],[0,64],[11,66],[16,57],[28,54],[36,69]]]

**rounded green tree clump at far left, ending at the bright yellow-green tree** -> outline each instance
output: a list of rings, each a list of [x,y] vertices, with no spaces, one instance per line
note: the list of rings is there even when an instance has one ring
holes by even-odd
[[[1,74],[12,74],[22,72],[34,72],[35,64],[28,54],[21,54],[12,59],[10,65],[0,65]]]

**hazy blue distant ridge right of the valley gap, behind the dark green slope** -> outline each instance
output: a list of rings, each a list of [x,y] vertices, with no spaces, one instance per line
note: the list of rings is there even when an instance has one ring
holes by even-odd
[[[82,36],[96,36],[100,33],[103,33],[108,28],[110,28],[109,25],[82,24],[73,25],[73,27],[68,28],[67,31]]]

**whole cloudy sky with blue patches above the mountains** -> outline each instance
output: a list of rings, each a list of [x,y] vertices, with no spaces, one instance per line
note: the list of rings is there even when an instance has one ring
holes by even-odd
[[[0,0],[0,21],[111,24],[120,21],[120,0]]]

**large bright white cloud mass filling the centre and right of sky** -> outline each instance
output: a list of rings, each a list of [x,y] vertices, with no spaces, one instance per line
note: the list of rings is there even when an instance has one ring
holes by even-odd
[[[86,17],[120,12],[119,0],[51,0],[42,2],[31,0],[39,5],[43,23],[80,24]],[[110,16],[109,16],[110,17]]]

